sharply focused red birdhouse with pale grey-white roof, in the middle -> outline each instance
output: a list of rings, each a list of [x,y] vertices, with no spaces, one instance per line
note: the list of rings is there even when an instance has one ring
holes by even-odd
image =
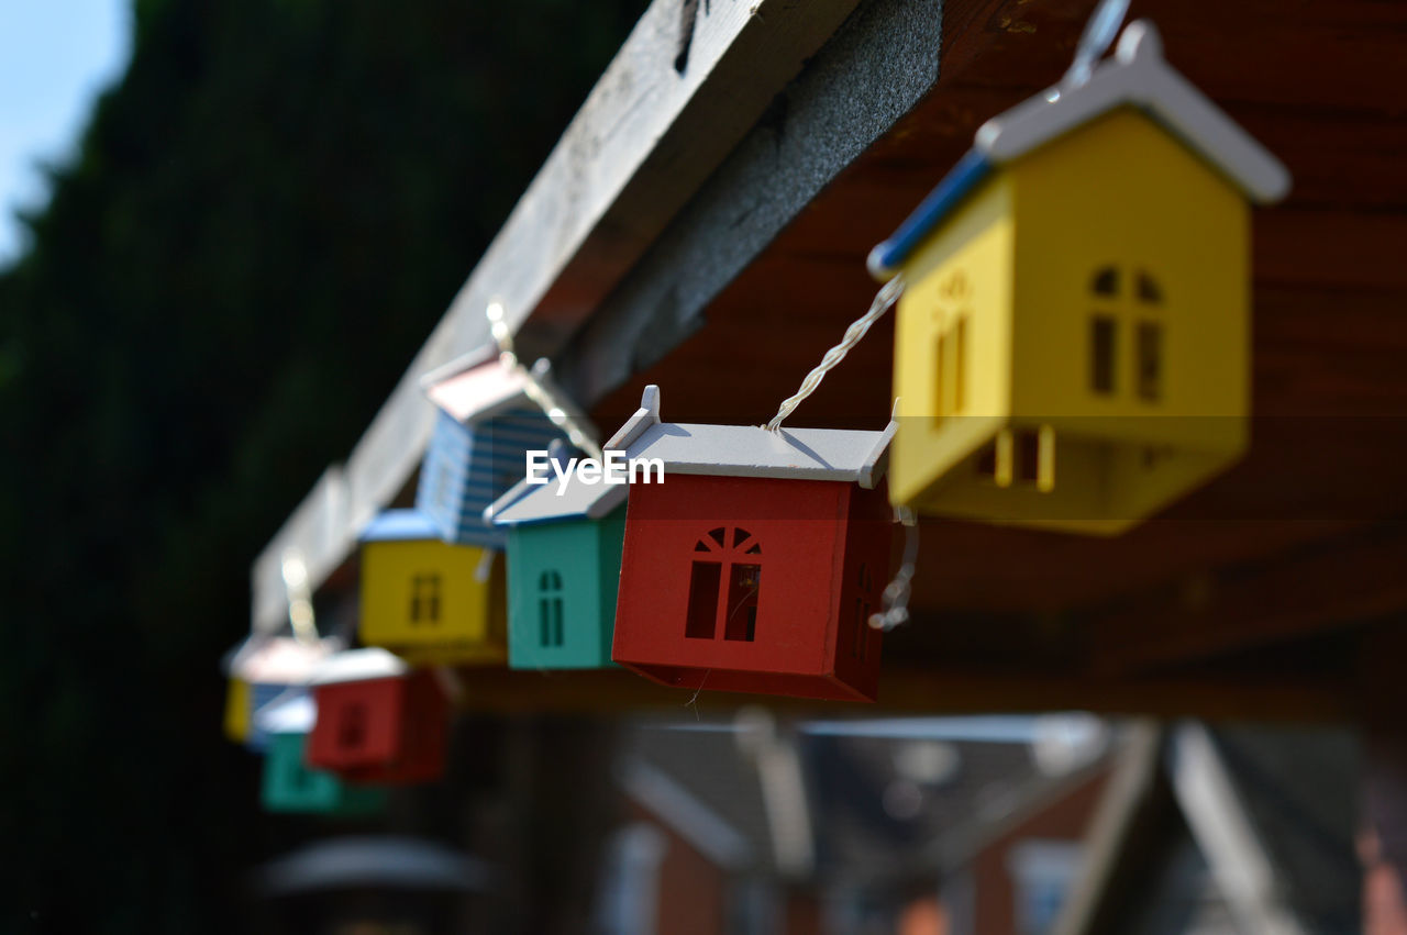
[[[612,658],[664,685],[872,702],[893,429],[667,423],[646,388],[606,443],[633,479]]]

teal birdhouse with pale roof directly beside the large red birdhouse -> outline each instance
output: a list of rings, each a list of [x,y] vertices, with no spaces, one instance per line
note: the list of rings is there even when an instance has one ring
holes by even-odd
[[[559,446],[553,457],[561,463]],[[602,668],[611,665],[629,488],[545,474],[546,484],[525,478],[484,513],[508,530],[508,666]]]

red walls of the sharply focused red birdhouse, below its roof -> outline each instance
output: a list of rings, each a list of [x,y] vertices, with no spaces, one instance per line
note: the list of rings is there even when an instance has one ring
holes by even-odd
[[[725,543],[705,551],[713,530],[725,530]],[[750,554],[749,543],[760,551]],[[860,614],[878,609],[889,543],[884,494],[854,484],[678,474],[636,484],[612,658],[666,685],[872,700],[881,637]],[[712,579],[695,572],[715,561],[716,596]],[[747,589],[730,598],[729,568],[750,564],[760,586],[747,640],[734,613]],[[698,621],[712,600],[723,621],[705,633]]]

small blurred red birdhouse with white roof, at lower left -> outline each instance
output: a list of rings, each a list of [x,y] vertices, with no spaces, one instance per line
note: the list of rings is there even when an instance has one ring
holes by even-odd
[[[386,650],[339,652],[312,676],[308,765],[349,782],[409,786],[445,772],[449,702],[429,669]]]

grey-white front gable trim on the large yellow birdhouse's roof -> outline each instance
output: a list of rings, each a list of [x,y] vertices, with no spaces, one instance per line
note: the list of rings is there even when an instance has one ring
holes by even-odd
[[[1279,201],[1290,173],[1162,58],[1158,30],[1147,20],[1124,28],[1112,59],[1076,87],[1052,87],[986,121],[975,149],[993,163],[1027,152],[1119,105],[1147,110],[1220,169],[1252,201]]]

